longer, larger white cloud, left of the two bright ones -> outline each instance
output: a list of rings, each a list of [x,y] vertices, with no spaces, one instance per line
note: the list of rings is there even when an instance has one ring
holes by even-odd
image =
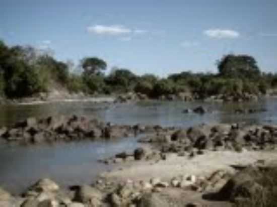
[[[120,35],[120,34],[128,34],[132,31],[122,25],[111,25],[111,26],[104,26],[104,25],[94,25],[87,27],[87,31],[90,33],[95,34],[106,34],[106,35]]]

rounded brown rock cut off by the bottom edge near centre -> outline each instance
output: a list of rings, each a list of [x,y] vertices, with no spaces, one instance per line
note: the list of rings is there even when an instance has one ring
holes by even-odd
[[[137,207],[168,207],[169,202],[158,193],[144,194],[138,202]]]

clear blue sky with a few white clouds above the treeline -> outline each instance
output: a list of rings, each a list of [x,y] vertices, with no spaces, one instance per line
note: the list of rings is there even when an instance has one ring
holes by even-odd
[[[275,0],[1,0],[0,39],[136,74],[215,72],[230,52],[277,72],[276,11]]]

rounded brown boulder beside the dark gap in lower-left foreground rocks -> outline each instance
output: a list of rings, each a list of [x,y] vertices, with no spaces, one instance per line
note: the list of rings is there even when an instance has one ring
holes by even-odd
[[[76,191],[75,200],[82,203],[91,203],[92,201],[99,202],[102,200],[102,194],[95,187],[82,185]]]

